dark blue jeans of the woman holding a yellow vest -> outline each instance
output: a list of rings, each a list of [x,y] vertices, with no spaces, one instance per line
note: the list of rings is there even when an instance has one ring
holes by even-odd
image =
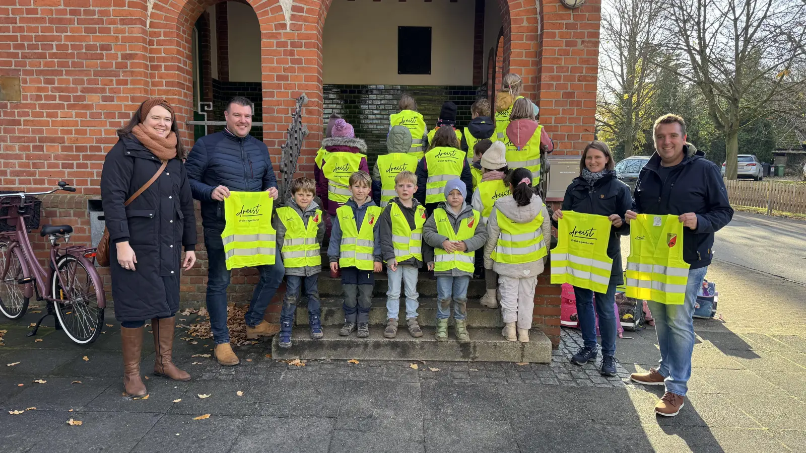
[[[599,315],[599,330],[602,335],[602,355],[616,354],[616,322],[618,319],[613,311],[616,302],[616,284],[610,282],[607,293],[595,293],[590,289],[574,287],[576,297],[576,315],[580,319],[580,330],[585,347],[596,351],[596,314]],[[593,313],[596,305],[596,314]]]

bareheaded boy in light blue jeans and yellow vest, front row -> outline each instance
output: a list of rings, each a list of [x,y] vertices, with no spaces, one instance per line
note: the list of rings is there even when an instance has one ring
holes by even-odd
[[[414,199],[417,177],[412,172],[400,172],[395,177],[394,197],[380,214],[378,241],[380,254],[386,262],[388,291],[386,292],[387,322],[384,337],[397,335],[397,318],[401,308],[401,286],[405,283],[405,317],[409,334],[422,337],[418,323],[417,293],[418,269],[430,261],[433,251],[422,246],[422,225],[426,222],[426,208]]]

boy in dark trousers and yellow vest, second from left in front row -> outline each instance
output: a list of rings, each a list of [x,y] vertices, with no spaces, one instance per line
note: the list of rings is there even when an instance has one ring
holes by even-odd
[[[369,336],[369,309],[375,276],[383,270],[378,241],[381,209],[369,193],[372,180],[367,172],[350,177],[352,197],[336,210],[327,257],[330,272],[341,272],[344,288],[344,326],[339,335],[349,336],[358,326],[359,338]]]

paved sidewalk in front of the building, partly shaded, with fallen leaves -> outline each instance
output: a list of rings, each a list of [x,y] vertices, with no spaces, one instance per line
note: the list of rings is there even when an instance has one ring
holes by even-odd
[[[210,354],[211,340],[183,341],[181,329],[175,358],[193,380],[150,376],[148,399],[131,400],[122,396],[117,322],[107,320],[112,326],[100,339],[80,347],[52,328],[42,330],[42,341],[26,337],[39,316],[28,314],[0,321],[8,330],[0,347],[0,445],[2,453],[806,451],[806,288],[728,264],[714,264],[709,276],[720,284],[725,322],[696,321],[695,369],[676,418],[652,411],[662,389],[625,379],[657,362],[652,328],[618,340],[614,378],[599,376],[596,364],[568,363],[581,344],[576,330],[563,331],[552,362],[542,365],[295,366],[266,357],[269,343],[261,342],[239,347],[242,364],[222,368],[193,357]],[[152,341],[144,344],[147,372],[154,354]],[[71,418],[81,426],[68,425]]]

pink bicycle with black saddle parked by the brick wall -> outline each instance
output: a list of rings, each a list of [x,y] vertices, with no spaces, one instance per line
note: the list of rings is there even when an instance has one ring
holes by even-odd
[[[44,318],[58,320],[56,329],[79,344],[92,343],[101,333],[106,297],[103,281],[95,269],[96,249],[84,246],[60,247],[70,242],[73,226],[44,225],[39,231],[50,242],[48,269],[39,264],[28,234],[39,227],[39,206],[35,195],[57,190],[75,192],[64,182],[48,192],[0,193],[0,313],[19,319],[28,301],[47,301],[48,312],[39,318],[28,336],[36,335]]]

